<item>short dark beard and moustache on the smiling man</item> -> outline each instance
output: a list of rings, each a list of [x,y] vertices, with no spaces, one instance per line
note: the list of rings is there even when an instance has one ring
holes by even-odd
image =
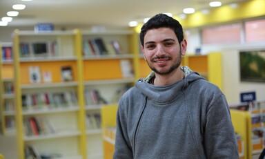
[[[172,57],[163,55],[161,57],[154,57],[151,59],[151,61],[153,61],[154,59],[165,58],[165,57],[168,59],[172,59]],[[181,49],[179,50],[179,57],[177,57],[177,59],[175,59],[175,61],[173,62],[173,65],[170,66],[170,68],[168,68],[168,70],[166,70],[166,71],[158,71],[157,68],[152,66],[147,60],[146,60],[146,62],[148,64],[148,66],[150,67],[150,69],[153,70],[155,73],[157,73],[159,75],[169,75],[170,73],[175,71],[175,69],[178,68],[181,64]]]

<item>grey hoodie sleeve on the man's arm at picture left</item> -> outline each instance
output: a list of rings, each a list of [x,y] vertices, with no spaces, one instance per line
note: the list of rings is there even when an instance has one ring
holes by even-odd
[[[124,94],[125,96],[125,94]],[[133,150],[127,133],[126,97],[121,97],[117,111],[117,130],[115,139],[115,152],[113,159],[133,159]]]

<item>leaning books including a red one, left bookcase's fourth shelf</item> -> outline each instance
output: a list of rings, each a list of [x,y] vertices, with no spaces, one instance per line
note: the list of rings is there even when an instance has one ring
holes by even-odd
[[[23,128],[27,136],[56,133],[54,125],[46,118],[25,118],[23,120]]]

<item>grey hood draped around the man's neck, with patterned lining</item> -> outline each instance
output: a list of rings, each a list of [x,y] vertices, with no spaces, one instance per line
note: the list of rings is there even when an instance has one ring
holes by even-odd
[[[186,77],[175,84],[154,86],[153,84],[148,83],[148,78],[150,79],[150,76],[153,76],[151,73],[148,75],[147,79],[139,79],[135,86],[141,93],[148,97],[148,100],[158,104],[173,102],[184,94],[183,91],[189,84],[198,79],[204,79],[198,73],[190,71],[190,69],[188,69],[188,71],[190,71],[189,73],[186,73],[185,69],[182,70],[185,72]]]

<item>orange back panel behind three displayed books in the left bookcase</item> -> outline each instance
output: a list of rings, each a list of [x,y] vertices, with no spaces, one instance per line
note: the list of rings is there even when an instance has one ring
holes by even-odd
[[[21,84],[30,84],[30,66],[39,66],[41,77],[45,71],[50,71],[52,82],[61,82],[61,67],[71,66],[74,81],[77,81],[77,63],[75,61],[63,62],[23,62],[20,64]],[[43,78],[41,79],[43,81]]]

